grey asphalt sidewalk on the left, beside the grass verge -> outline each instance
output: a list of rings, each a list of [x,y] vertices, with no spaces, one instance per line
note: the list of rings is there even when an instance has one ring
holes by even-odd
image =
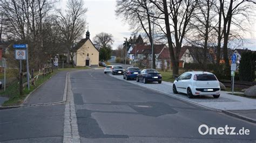
[[[69,70],[60,71],[54,75],[49,81],[41,85],[35,92],[24,101],[24,105],[46,104],[63,101],[66,73]]]

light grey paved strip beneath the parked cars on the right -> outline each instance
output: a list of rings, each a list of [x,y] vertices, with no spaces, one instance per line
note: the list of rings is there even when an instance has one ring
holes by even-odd
[[[109,75],[120,80],[123,80],[123,75]],[[240,117],[242,119],[246,118],[247,120],[256,123],[256,99],[230,95],[227,94],[227,91],[220,91],[219,98],[213,98],[213,96],[201,96],[190,99],[186,96],[186,94],[173,94],[173,84],[170,82],[163,81],[161,84],[158,84],[157,82],[147,84],[136,81],[127,82],[162,92],[169,96],[179,98],[183,101],[195,103],[197,105],[201,105],[213,110],[222,111],[227,113],[228,115]]]

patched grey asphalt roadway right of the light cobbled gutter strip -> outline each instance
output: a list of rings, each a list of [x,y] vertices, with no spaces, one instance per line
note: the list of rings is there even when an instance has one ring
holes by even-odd
[[[71,73],[82,142],[254,142],[255,124],[118,80],[103,70]],[[242,127],[250,135],[201,135],[198,127]],[[202,130],[204,132],[204,130]]]

